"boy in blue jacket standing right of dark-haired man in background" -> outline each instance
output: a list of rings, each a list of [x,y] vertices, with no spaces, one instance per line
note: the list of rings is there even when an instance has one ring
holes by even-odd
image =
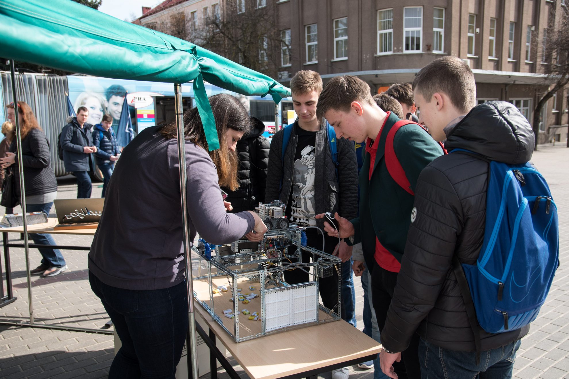
[[[92,134],[93,146],[97,148],[95,152],[95,163],[103,174],[101,197],[105,197],[105,190],[109,184],[110,176],[113,174],[114,163],[121,155],[112,126],[113,116],[105,114],[102,117],[102,122],[94,126]]]

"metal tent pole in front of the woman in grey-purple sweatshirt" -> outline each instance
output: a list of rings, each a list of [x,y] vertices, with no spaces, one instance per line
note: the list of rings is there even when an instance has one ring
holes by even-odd
[[[197,345],[196,345],[196,316],[193,313],[193,282],[192,256],[189,251],[188,205],[186,202],[186,170],[185,170],[185,135],[184,114],[182,109],[182,86],[174,85],[174,103],[176,108],[176,128],[178,138],[178,161],[180,168],[180,197],[182,198],[182,232],[185,263],[185,282],[188,289],[188,336],[186,343],[186,359],[188,360],[188,378],[198,379],[197,374]],[[191,375],[191,376],[190,376]]]

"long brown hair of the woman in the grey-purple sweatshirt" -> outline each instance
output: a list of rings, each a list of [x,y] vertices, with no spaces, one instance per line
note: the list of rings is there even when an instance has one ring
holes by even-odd
[[[209,103],[220,144],[220,148],[210,151],[209,156],[217,168],[219,185],[234,191],[239,188],[237,181],[239,159],[236,152],[229,150],[225,134],[228,129],[247,133],[251,128],[251,120],[242,103],[232,95],[224,93],[213,95],[209,98]],[[164,125],[160,132],[165,138],[176,138],[176,122]],[[184,135],[186,140],[208,150],[208,142],[205,139],[197,107],[188,109],[184,113]]]

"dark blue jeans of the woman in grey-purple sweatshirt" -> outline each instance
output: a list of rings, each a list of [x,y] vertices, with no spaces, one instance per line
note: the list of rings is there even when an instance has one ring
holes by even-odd
[[[122,346],[110,365],[110,379],[175,378],[188,332],[185,281],[159,290],[126,290],[89,282],[113,321]]]

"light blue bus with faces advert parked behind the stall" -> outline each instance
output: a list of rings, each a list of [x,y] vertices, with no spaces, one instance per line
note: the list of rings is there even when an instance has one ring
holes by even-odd
[[[0,100],[6,105],[13,99],[11,76],[9,72],[0,71],[0,77]],[[80,106],[89,110],[87,122],[90,124],[100,123],[105,113],[110,114],[114,120],[115,132],[125,93],[135,134],[149,126],[172,122],[175,119],[174,85],[171,83],[109,79],[83,74],[55,76],[36,73],[17,73],[15,81],[18,100],[31,106],[40,126],[46,132],[51,148],[52,168],[56,176],[68,174],[63,161],[57,157],[57,138],[69,116],[68,98],[75,111]],[[265,124],[263,135],[269,137],[269,127],[275,125],[275,106],[270,96],[245,96],[207,82],[205,91],[208,96],[228,93],[240,99],[249,114]],[[195,106],[191,82],[182,85],[182,106],[184,110]],[[293,117],[292,99],[285,98],[279,107],[278,119],[281,125],[286,125],[294,121]],[[6,107],[2,106],[0,122],[5,120]],[[102,174],[97,166],[93,164],[93,167],[94,178],[102,181]]]

